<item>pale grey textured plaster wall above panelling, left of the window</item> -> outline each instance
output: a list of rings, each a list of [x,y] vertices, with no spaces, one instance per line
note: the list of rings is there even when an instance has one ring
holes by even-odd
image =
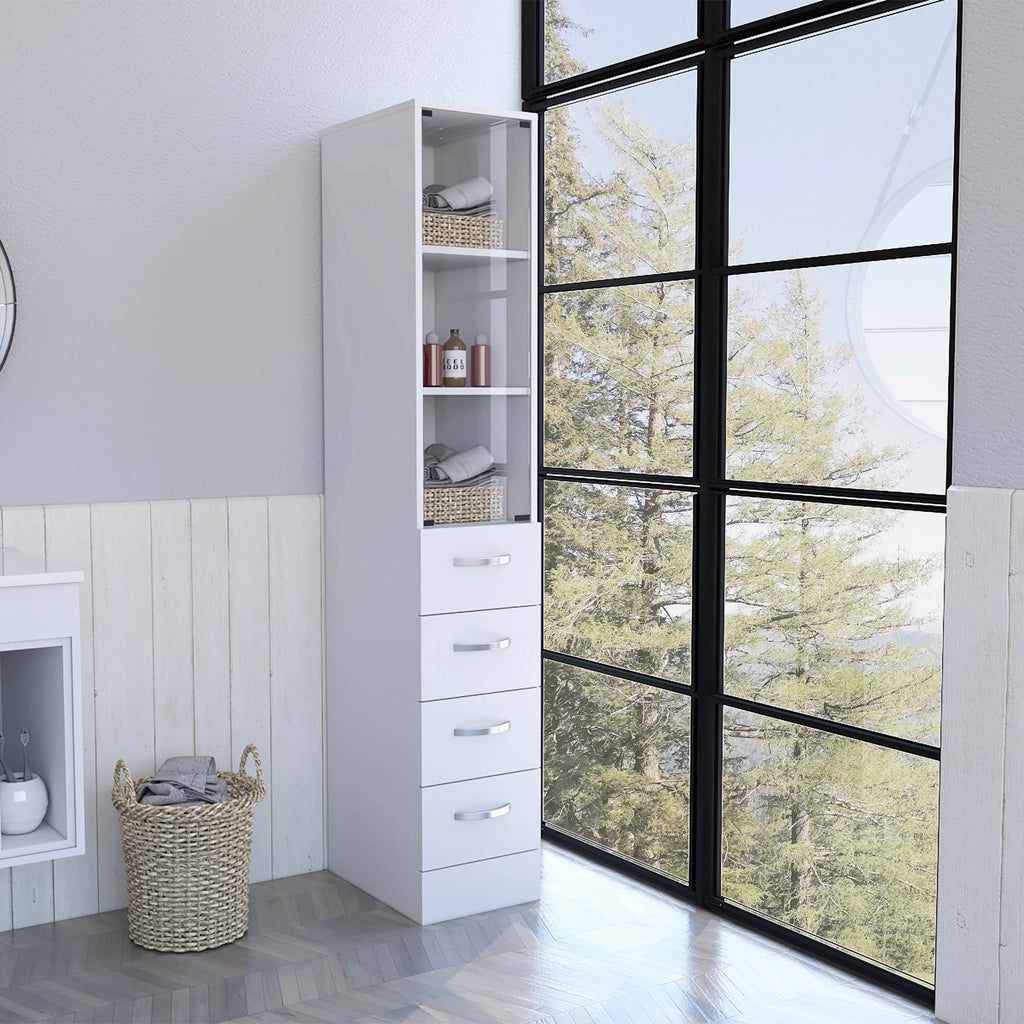
[[[413,95],[518,105],[517,0],[3,0],[0,504],[322,492],[319,131]]]

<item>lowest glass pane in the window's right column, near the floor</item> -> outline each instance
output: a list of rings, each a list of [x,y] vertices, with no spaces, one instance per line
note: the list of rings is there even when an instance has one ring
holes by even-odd
[[[931,984],[939,764],[725,710],[722,895]]]

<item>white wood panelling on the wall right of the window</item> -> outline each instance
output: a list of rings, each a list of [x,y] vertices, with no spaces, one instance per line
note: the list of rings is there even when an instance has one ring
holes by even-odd
[[[935,1012],[1019,1024],[1024,493],[952,487],[945,564]]]

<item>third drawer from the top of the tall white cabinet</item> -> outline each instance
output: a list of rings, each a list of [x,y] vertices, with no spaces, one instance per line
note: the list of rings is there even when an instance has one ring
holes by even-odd
[[[540,768],[540,687],[422,708],[423,785]]]

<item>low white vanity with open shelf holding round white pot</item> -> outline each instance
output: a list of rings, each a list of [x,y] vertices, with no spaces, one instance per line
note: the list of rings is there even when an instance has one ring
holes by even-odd
[[[79,637],[81,571],[47,572],[32,556],[0,548],[0,731],[11,771],[22,767],[23,727],[29,767],[46,785],[39,826],[0,835],[0,867],[85,852],[82,686]],[[0,785],[0,788],[3,788]],[[25,800],[17,786],[0,794],[3,810]],[[9,805],[8,805],[9,801]]]

